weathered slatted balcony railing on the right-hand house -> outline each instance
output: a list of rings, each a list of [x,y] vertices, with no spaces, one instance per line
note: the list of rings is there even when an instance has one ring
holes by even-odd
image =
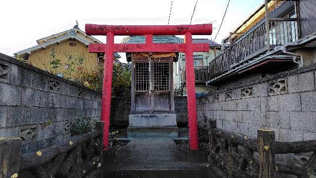
[[[270,45],[267,45],[266,21],[249,29],[222,54],[209,63],[210,78],[254,58],[268,49],[298,40],[296,18],[269,18]]]

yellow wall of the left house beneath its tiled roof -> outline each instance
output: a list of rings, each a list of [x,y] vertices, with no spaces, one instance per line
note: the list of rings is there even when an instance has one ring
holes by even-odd
[[[76,43],[76,46],[70,46],[69,43]],[[65,76],[65,63],[67,63],[66,54],[72,54],[74,56],[85,56],[83,59],[82,67],[88,70],[93,69],[97,65],[97,53],[89,53],[88,47],[82,45],[81,43],[69,40],[61,43],[60,45],[49,46],[46,49],[41,49],[35,52],[32,52],[29,55],[28,60],[32,63],[32,65],[47,71],[54,71],[52,66],[49,64],[51,62],[52,57],[50,54],[52,53],[52,47],[55,48],[56,58],[61,60],[61,67],[57,69],[57,73],[63,73]],[[77,69],[77,66],[75,70]],[[76,72],[72,72],[71,76],[74,78]]]

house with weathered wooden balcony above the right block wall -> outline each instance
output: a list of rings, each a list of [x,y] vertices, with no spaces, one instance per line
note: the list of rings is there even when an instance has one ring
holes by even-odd
[[[223,40],[207,86],[226,88],[316,62],[316,1],[265,0]]]

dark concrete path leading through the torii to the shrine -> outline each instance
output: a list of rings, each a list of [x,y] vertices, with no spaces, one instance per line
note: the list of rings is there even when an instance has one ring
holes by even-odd
[[[204,163],[185,162],[169,137],[133,138],[104,168],[105,178],[207,177]]]

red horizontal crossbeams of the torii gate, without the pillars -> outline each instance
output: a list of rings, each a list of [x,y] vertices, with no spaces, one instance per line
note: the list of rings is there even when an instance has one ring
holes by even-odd
[[[185,44],[154,44],[153,35],[211,35],[212,24],[95,25],[85,24],[87,35],[146,35],[146,44],[113,44],[115,52],[185,52]],[[89,52],[105,52],[109,44],[90,44]],[[208,44],[192,44],[192,51],[207,52]]]

